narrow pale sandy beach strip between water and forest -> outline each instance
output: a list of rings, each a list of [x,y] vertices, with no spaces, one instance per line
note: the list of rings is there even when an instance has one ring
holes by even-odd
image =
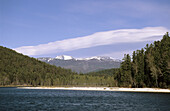
[[[161,89],[161,88],[121,88],[121,87],[17,87],[17,88],[18,89],[58,89],[58,90],[84,90],[84,91],[170,93],[170,89]]]

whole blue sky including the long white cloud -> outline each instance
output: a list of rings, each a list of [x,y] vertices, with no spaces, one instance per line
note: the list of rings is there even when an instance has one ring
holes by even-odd
[[[122,59],[170,32],[169,0],[0,0],[0,45],[31,57]]]

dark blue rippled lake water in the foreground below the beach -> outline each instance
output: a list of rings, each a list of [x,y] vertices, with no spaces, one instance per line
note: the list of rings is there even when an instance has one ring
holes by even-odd
[[[170,111],[170,94],[0,88],[0,111]]]

